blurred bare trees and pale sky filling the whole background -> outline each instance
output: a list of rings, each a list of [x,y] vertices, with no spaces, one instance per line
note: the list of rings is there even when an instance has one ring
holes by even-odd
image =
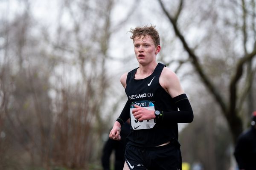
[[[119,77],[137,67],[127,31],[150,24],[195,114],[179,125],[183,161],[235,169],[256,110],[256,0],[0,0],[0,11],[1,170],[101,170],[126,100]]]

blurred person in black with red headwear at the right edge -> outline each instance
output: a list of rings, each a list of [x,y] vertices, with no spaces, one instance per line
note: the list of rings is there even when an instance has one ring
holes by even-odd
[[[239,170],[256,170],[256,111],[250,129],[239,136],[234,155]]]

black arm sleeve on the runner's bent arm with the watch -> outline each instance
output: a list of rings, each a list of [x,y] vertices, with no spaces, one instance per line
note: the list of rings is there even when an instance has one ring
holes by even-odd
[[[180,111],[163,111],[163,122],[191,123],[194,119],[192,107],[186,94],[173,98]]]

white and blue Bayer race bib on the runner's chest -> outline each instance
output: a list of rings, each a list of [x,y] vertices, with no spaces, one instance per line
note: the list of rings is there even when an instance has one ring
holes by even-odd
[[[154,119],[143,120],[141,122],[138,119],[135,119],[135,117],[132,114],[132,110],[135,108],[134,105],[137,105],[137,106],[146,108],[148,110],[154,111],[154,104],[149,100],[132,102],[131,105],[130,105],[131,127],[134,130],[153,128],[154,125],[156,124]]]

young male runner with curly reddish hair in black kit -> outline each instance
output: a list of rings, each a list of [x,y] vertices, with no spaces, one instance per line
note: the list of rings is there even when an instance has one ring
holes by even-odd
[[[155,27],[130,32],[139,67],[121,76],[128,101],[109,137],[120,140],[120,127],[130,118],[123,169],[181,170],[177,123],[192,122],[191,105],[177,75],[156,62],[161,46]]]

